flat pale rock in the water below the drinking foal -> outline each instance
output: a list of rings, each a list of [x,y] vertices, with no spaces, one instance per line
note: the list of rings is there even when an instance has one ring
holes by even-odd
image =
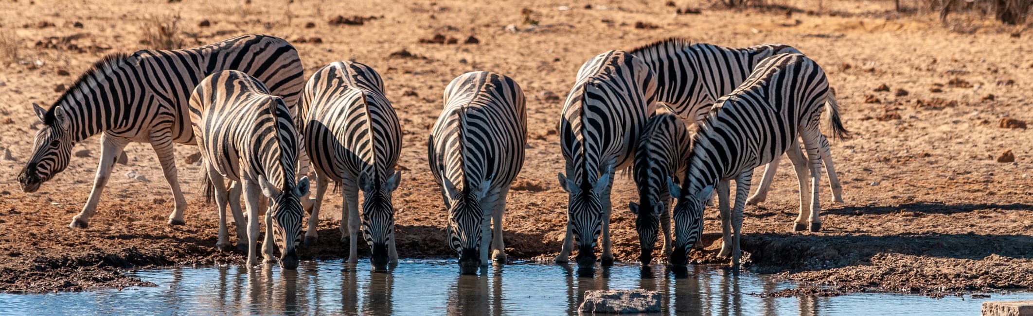
[[[660,292],[644,289],[585,291],[585,302],[578,310],[613,314],[660,312]]]

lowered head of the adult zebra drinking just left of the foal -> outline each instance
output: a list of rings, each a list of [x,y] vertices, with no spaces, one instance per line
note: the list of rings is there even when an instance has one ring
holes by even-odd
[[[602,230],[603,194],[609,186],[611,171],[606,170],[594,183],[583,177],[581,184],[560,176],[560,187],[567,191],[567,223],[577,244],[577,267],[595,265],[595,245]]]

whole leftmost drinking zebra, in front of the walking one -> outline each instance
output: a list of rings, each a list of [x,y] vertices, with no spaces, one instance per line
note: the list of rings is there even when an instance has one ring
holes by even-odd
[[[206,195],[211,196],[214,191],[219,207],[216,246],[220,249],[229,246],[225,209],[230,197],[223,183],[228,179],[240,184],[244,191],[248,211],[248,268],[258,263],[255,245],[258,217],[263,211],[264,261],[275,262],[275,244],[280,250],[281,267],[298,268],[295,249],[301,242],[305,213],[301,198],[308,194],[309,179],[294,181],[301,139],[292,110],[283,98],[270,94],[261,81],[237,70],[223,70],[202,80],[188,105],[193,136],[207,170]],[[233,217],[241,218],[238,214]],[[237,223],[243,225],[241,221]]]

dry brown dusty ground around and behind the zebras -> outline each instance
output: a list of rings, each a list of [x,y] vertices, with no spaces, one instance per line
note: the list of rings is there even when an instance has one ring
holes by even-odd
[[[848,291],[1033,286],[1031,131],[999,127],[1002,118],[1033,120],[1033,35],[1011,36],[1012,29],[992,23],[951,30],[924,14],[897,17],[887,11],[891,2],[844,1],[826,7],[835,13],[819,14],[711,9],[685,1],[679,6],[702,12],[676,14],[676,7],[659,1],[593,2],[591,8],[556,1],[243,2],[0,3],[0,146],[10,152],[0,163],[0,291],[121,287],[142,283],[122,268],[243,263],[240,253],[214,248],[217,217],[197,199],[198,166],[180,164],[191,202],[187,225],[165,224],[171,196],[149,146],[128,147],[129,163],[116,166],[88,229],[66,225],[89,193],[99,155],[96,137],[74,148],[91,150],[89,157],[73,158],[38,192],[22,193],[15,182],[32,150],[30,103],[52,103],[60,95],[56,86],[69,85],[104,54],[147,48],[140,42],[143,22],[177,12],[188,45],[268,33],[295,43],[307,73],[348,59],[381,72],[405,134],[396,206],[400,253],[406,257],[451,255],[424,146],[449,81],[466,71],[494,70],[524,88],[531,148],[509,197],[505,239],[512,258],[550,259],[559,251],[566,221],[566,194],[556,185],[563,161],[555,127],[577,68],[607,50],[683,36],[731,46],[796,46],[824,66],[853,131],[852,138],[833,141],[846,202],[827,203],[822,185],[822,231],[788,231],[799,199],[785,160],[768,201],[746,209],[743,247],[749,268]],[[531,10],[527,18],[524,7]],[[330,24],[337,15],[376,19]],[[530,27],[525,20],[539,24]],[[647,28],[636,28],[638,22]],[[507,25],[515,25],[516,32]],[[420,42],[435,34],[459,43]],[[479,42],[464,43],[469,36]],[[392,56],[401,51],[412,56]],[[888,91],[875,91],[883,84]],[[178,150],[181,162],[194,152]],[[1014,162],[997,161],[1005,151]],[[123,176],[129,171],[149,181]],[[634,191],[627,177],[617,180],[614,251],[625,261],[638,251],[633,218],[623,207]],[[330,206],[340,208],[340,200]],[[306,259],[347,253],[338,242],[340,216],[333,213],[324,209],[319,245],[304,250]],[[709,214],[707,230],[718,227],[716,215]],[[697,262],[718,262],[716,245],[699,253]],[[801,291],[814,292],[820,291]]]

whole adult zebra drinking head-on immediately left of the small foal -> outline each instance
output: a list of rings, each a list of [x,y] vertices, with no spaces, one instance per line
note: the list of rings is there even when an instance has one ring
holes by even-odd
[[[609,193],[614,172],[630,166],[639,133],[654,112],[656,82],[641,59],[624,51],[593,57],[577,71],[577,82],[563,105],[560,146],[566,175],[560,187],[568,193],[567,227],[556,262],[567,262],[576,239],[577,265],[595,264],[600,234],[603,266],[611,252]]]

